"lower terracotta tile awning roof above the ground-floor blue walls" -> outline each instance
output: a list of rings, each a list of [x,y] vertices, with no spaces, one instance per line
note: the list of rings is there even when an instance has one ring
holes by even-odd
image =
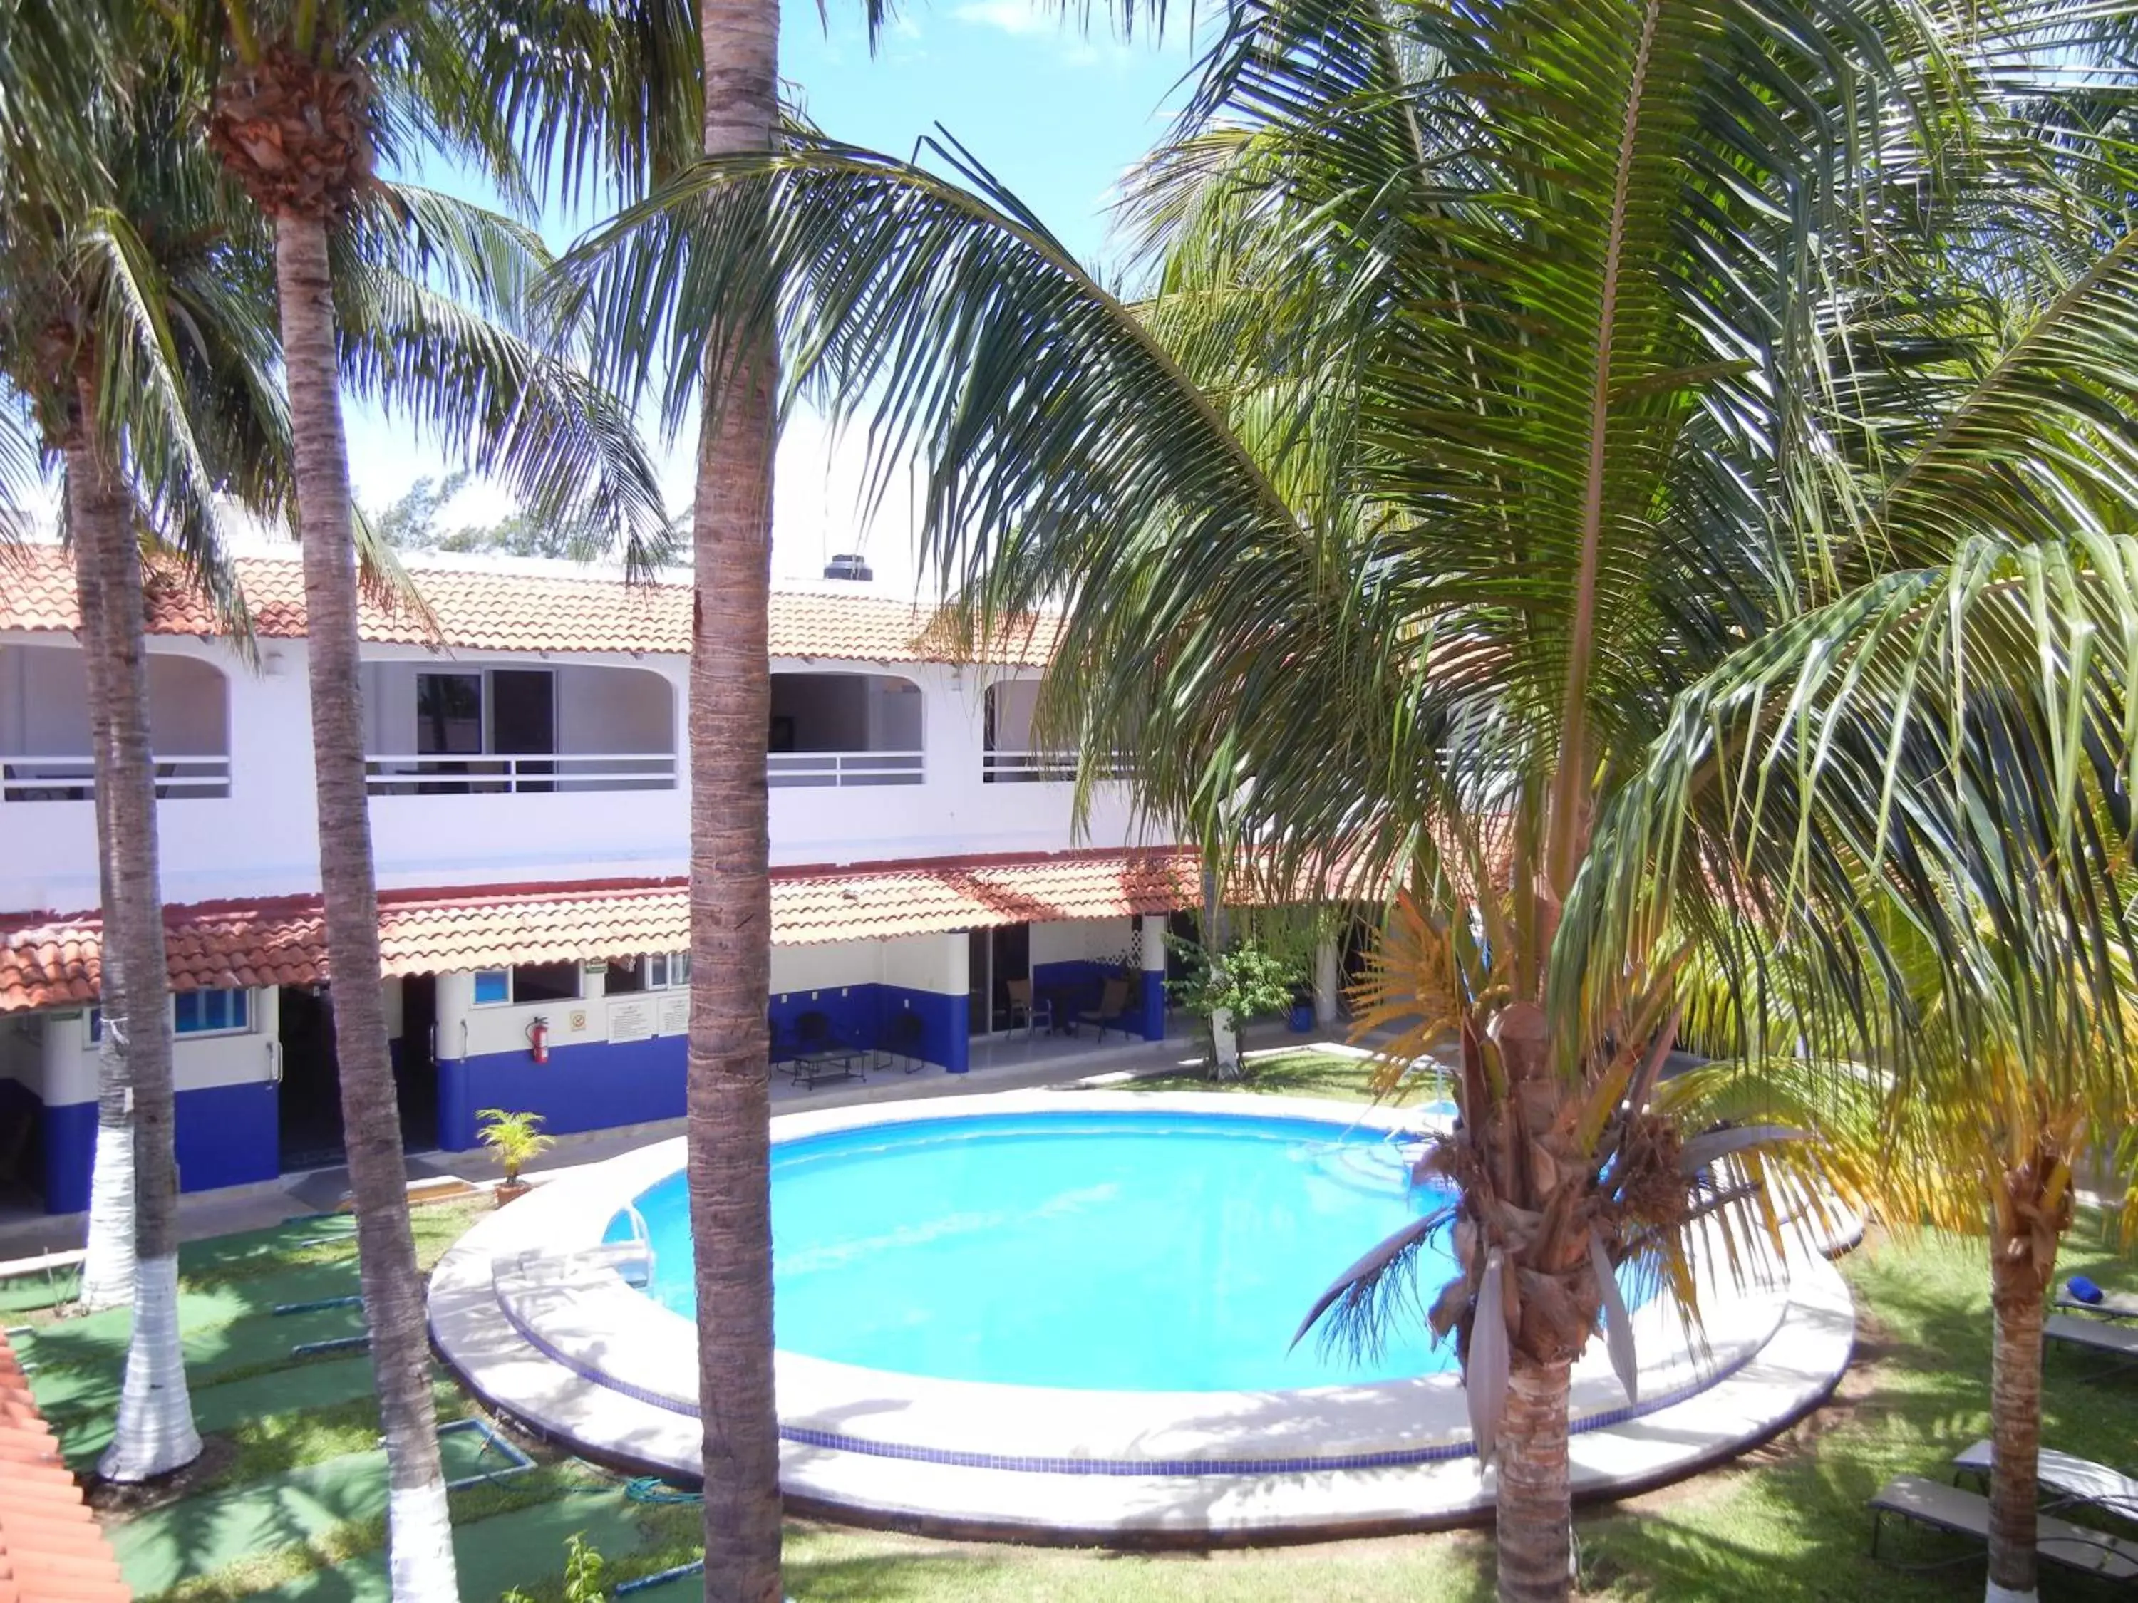
[[[772,938],[783,947],[881,940],[996,923],[1169,913],[1199,900],[1197,859],[1176,851],[783,868]],[[96,913],[0,919],[0,1013],[96,998]],[[316,896],[165,908],[171,987],[314,985],[327,977]],[[691,938],[686,885],[597,881],[385,891],[387,975],[443,975],[573,958],[678,951]]]

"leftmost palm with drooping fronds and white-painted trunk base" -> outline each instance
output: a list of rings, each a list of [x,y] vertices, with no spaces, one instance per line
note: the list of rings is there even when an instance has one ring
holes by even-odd
[[[96,769],[107,930],[86,1302],[133,1302],[107,1479],[199,1453],[177,1338],[177,1165],[137,528],[229,601],[216,498],[272,509],[280,406],[265,250],[199,139],[173,141],[169,68],[120,79],[90,41],[34,139],[0,130],[0,370],[64,464]],[[19,457],[34,464],[34,457]],[[229,609],[227,609],[229,616]],[[242,633],[242,618],[233,618]],[[150,979],[130,985],[126,977]],[[137,1285],[139,1282],[139,1295]]]

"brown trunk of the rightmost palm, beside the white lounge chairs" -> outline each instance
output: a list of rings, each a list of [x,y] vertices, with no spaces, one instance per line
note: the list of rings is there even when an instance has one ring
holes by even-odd
[[[2020,1603],[2035,1590],[2035,1462],[2042,1451],[2042,1291],[2031,1233],[1990,1233],[1990,1573],[1986,1603]]]

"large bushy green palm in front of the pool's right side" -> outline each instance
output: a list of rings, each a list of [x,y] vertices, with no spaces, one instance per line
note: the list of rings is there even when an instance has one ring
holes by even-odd
[[[1240,872],[1407,887],[1388,960],[1460,1043],[1432,1319],[1499,1466],[1507,1599],[1569,1588],[1567,1370],[1614,1270],[1757,1216],[1700,1169],[1871,1141],[1916,1022],[1894,921],[1941,998],[1980,994],[1973,898],[2023,819],[1990,782],[1899,789],[1946,769],[1881,735],[1943,710],[1973,740],[1988,699],[2070,744],[2020,671],[2055,620],[2001,616],[1943,678],[1830,656],[1907,639],[1901,592],[1990,616],[2061,560],[2102,609],[2078,705],[2127,757],[2138,338],[2127,227],[2087,197],[2129,186],[2070,182],[2112,143],[1999,98],[2044,53],[2029,19],[1971,28],[1242,4],[1137,188],[1144,306],[962,152],[945,177],[830,141],[680,175],[564,267],[624,365],[776,314],[795,387],[928,457],[934,569],[983,618],[1067,605],[1050,695],[1088,754],[1133,748]],[[1792,744],[1804,697],[1830,718]],[[2106,780],[2059,772],[2052,849],[2005,889],[2100,923],[2106,857],[2067,825]],[[2065,934],[2065,1005],[2112,994]],[[1663,1084],[1717,983],[1760,1073]],[[1370,1319],[1405,1246],[1332,1306]]]

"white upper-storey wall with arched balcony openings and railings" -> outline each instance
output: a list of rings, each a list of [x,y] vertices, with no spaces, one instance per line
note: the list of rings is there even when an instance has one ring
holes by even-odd
[[[58,637],[11,637],[0,645],[79,656]],[[229,705],[231,793],[173,797],[158,806],[165,900],[286,896],[319,887],[319,844],[310,763],[310,703],[304,641],[263,641],[263,671],[242,665],[229,648],[190,637],[156,637],[154,658],[188,658],[222,671]],[[421,648],[368,648],[363,703],[372,750],[415,746],[415,673],[460,667],[620,669],[626,678],[656,675],[667,684],[669,742],[654,740],[652,699],[626,725],[611,722],[611,748],[629,740],[682,750],[684,673],[680,656],[631,658],[584,654],[571,663],[534,654],[492,652],[440,656]],[[41,671],[49,671],[47,669]],[[825,669],[825,663],[780,658],[780,671]],[[1069,846],[1142,844],[1131,831],[1127,799],[1097,797],[1084,834],[1071,827],[1069,784],[983,784],[979,688],[990,678],[949,665],[838,665],[847,673],[879,673],[919,686],[919,695],[885,686],[874,716],[885,740],[928,752],[924,784],[853,789],[776,789],[772,793],[772,861],[862,863],[975,853],[1048,853]],[[184,671],[192,671],[190,667]],[[567,675],[569,678],[569,675]],[[624,678],[607,680],[605,692]],[[594,680],[588,680],[592,686]],[[560,716],[573,716],[573,737],[603,722],[579,686],[560,680]],[[864,705],[868,699],[864,697]],[[0,718],[9,716],[0,686]],[[15,705],[21,705],[17,692]],[[391,710],[391,718],[385,714]],[[616,707],[609,705],[609,712]],[[406,725],[402,716],[406,714]],[[582,718],[584,714],[584,718]],[[17,714],[19,716],[19,714]],[[49,710],[41,716],[49,716]],[[393,725],[393,727],[385,727]],[[4,731],[0,731],[4,735]],[[917,740],[915,740],[917,735]],[[86,750],[86,735],[79,750]],[[505,881],[650,878],[688,868],[688,776],[671,791],[554,791],[532,795],[381,795],[372,797],[372,851],[378,883],[393,887],[496,885]],[[0,851],[0,911],[73,913],[96,904],[94,806],[90,802],[0,804],[0,840],[34,851]]]

